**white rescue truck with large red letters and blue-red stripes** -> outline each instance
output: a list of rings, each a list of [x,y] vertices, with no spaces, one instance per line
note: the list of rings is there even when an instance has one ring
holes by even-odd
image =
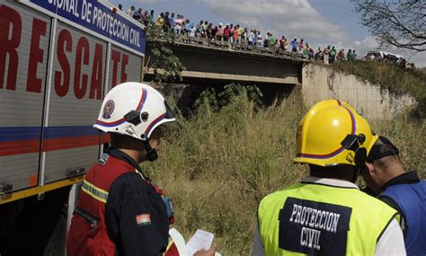
[[[141,80],[145,45],[103,1],[0,0],[0,214],[82,181],[102,151],[102,97]]]

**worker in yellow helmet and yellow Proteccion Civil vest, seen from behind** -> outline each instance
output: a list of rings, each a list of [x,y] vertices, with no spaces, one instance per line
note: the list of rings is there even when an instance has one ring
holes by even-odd
[[[295,163],[310,175],[262,199],[253,255],[405,255],[397,212],[359,190],[377,140],[347,103],[317,102],[297,128]]]

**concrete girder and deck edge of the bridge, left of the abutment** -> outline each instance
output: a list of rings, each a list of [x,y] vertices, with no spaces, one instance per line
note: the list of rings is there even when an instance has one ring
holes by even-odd
[[[147,42],[146,56],[151,46]],[[182,84],[301,84],[302,66],[307,62],[287,51],[276,54],[271,49],[189,37],[180,37],[167,47],[186,68]],[[152,72],[147,72],[146,80],[151,78]]]

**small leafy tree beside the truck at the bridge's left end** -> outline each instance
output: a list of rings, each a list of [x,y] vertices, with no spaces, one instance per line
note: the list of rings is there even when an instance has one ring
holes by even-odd
[[[182,66],[178,57],[167,47],[167,44],[174,43],[175,37],[173,31],[164,31],[154,22],[146,25],[146,45],[149,48],[146,56],[144,74],[147,72],[153,74],[155,83],[182,81]]]

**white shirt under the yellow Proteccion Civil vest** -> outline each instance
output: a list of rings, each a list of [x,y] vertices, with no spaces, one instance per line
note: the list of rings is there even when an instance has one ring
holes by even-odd
[[[335,179],[324,179],[324,178],[315,178],[307,176],[302,181],[313,182],[317,184],[331,185],[337,187],[345,188],[356,188],[359,189],[357,185],[350,181],[342,181]],[[252,256],[264,256],[265,250],[261,239],[261,234],[259,233],[259,227],[256,225],[254,227],[254,237],[253,237],[253,248]],[[385,256],[385,255],[406,255],[405,245],[404,245],[404,235],[401,227],[398,225],[398,222],[394,218],[391,223],[386,227],[385,232],[380,236],[380,239],[376,245],[375,256]]]

